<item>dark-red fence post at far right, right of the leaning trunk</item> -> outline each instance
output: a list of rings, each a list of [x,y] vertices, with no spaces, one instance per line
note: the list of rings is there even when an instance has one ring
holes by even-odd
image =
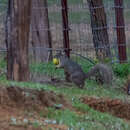
[[[115,17],[116,17],[116,32],[118,55],[120,63],[127,61],[126,54],[126,36],[125,36],[125,23],[123,14],[123,0],[114,0],[115,3]]]

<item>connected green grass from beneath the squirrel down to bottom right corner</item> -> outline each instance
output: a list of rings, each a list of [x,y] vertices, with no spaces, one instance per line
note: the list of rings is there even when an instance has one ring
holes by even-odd
[[[108,113],[101,113],[93,110],[85,104],[79,101],[79,97],[88,96],[98,96],[98,97],[112,97],[112,98],[125,98],[125,95],[119,93],[114,89],[105,89],[103,86],[98,86],[96,83],[88,82],[88,89],[81,90],[73,86],[68,88],[67,86],[62,86],[61,88],[54,87],[53,85],[41,85],[38,83],[25,83],[25,82],[10,82],[10,81],[0,81],[0,84],[8,84],[21,87],[30,87],[35,89],[44,89],[47,91],[54,91],[56,93],[62,93],[65,97],[72,102],[73,107],[76,111],[69,109],[56,110],[54,108],[48,108],[48,112],[42,114],[42,116],[55,120],[58,124],[65,124],[72,130],[93,130],[93,129],[103,129],[103,130],[128,130],[130,129],[130,123],[124,120],[114,117]],[[96,85],[92,87],[92,84]],[[91,88],[92,87],[92,88]],[[91,89],[90,89],[91,88]],[[40,113],[39,113],[40,114]]]

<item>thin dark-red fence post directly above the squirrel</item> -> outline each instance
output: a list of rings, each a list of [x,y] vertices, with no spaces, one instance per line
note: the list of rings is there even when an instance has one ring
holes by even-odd
[[[69,25],[68,25],[68,5],[67,0],[61,0],[62,5],[62,24],[63,24],[63,46],[66,55],[70,56],[70,45],[69,45]]]

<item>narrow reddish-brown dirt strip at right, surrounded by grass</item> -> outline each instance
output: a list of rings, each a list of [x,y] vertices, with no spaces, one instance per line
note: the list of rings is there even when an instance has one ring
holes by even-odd
[[[130,120],[130,104],[119,99],[103,99],[83,97],[82,102],[100,112],[108,112],[114,116]]]

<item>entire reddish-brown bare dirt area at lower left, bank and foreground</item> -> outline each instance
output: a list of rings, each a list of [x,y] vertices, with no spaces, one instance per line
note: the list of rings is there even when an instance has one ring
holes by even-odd
[[[67,130],[66,126],[40,116],[41,112],[47,114],[47,107],[64,109],[71,105],[63,95],[52,91],[0,87],[0,130]]]

